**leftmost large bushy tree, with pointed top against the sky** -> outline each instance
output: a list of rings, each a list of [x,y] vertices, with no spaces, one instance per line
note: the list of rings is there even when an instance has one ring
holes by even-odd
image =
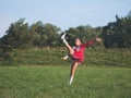
[[[4,44],[12,48],[24,48],[31,46],[32,36],[28,32],[28,24],[21,19],[12,23],[3,37]]]

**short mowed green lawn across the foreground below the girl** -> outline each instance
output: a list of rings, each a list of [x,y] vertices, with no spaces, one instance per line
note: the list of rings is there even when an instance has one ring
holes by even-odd
[[[131,69],[69,65],[0,66],[0,98],[131,98]]]

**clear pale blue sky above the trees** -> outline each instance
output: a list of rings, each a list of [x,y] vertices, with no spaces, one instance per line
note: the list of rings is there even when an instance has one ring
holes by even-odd
[[[0,37],[11,23],[25,17],[29,25],[41,21],[66,30],[69,27],[104,26],[126,16],[131,0],[0,0]]]

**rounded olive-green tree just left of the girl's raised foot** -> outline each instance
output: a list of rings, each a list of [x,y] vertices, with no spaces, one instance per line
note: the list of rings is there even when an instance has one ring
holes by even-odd
[[[57,41],[59,30],[59,27],[48,23],[43,24],[43,22],[40,21],[33,24],[29,28],[29,32],[32,32],[35,36],[33,44],[37,47],[57,46],[59,42]]]

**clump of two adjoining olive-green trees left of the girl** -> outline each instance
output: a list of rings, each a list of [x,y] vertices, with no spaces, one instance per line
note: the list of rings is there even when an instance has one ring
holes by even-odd
[[[41,22],[28,26],[27,23],[24,23],[24,19],[21,19],[11,24],[1,42],[11,48],[56,46],[59,30],[60,28],[57,26],[44,25]]]

